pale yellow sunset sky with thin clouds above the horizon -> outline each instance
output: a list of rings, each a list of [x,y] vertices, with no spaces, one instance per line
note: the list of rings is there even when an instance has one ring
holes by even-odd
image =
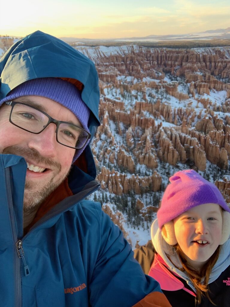
[[[0,34],[124,38],[230,27],[230,1],[0,0]]]

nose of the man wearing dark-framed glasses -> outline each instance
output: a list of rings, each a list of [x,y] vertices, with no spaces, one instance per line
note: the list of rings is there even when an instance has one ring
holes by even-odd
[[[56,141],[56,125],[51,123],[45,130],[39,134],[30,134],[28,146],[34,149],[44,157],[53,158],[56,156],[56,147],[58,142]]]

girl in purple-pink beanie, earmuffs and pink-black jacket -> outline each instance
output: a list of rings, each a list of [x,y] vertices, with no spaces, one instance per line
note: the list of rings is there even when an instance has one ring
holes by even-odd
[[[229,235],[230,209],[218,188],[194,170],[179,171],[152,224],[153,246],[135,257],[145,271],[151,266],[173,307],[230,306]]]

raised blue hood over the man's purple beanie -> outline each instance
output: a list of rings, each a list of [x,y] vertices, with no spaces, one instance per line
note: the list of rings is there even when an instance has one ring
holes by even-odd
[[[89,130],[93,137],[100,125],[98,117],[99,86],[94,63],[73,47],[41,31],[17,41],[0,59],[0,99],[27,80],[45,77],[71,78],[83,84],[82,100],[91,110]],[[87,173],[96,177],[89,145],[83,153]]]

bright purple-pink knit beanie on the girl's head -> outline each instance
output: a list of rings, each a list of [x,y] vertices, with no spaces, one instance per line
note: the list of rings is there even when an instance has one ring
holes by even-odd
[[[218,204],[230,213],[219,189],[193,169],[179,171],[169,181],[157,212],[160,229],[183,212],[201,204]]]

